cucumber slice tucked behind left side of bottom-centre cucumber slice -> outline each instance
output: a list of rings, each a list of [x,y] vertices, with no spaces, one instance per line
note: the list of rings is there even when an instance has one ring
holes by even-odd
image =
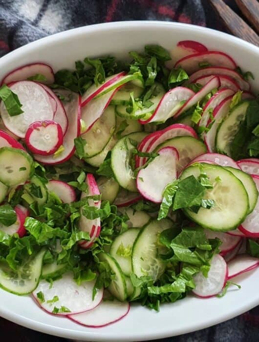
[[[132,266],[131,266],[132,246],[138,233],[139,233],[138,228],[131,228],[127,230],[126,232],[116,236],[110,246],[110,255],[114,257],[114,259],[120,265],[122,272],[128,277],[130,276],[132,272]],[[129,252],[129,255],[121,256],[119,253],[120,248],[127,249],[127,252]]]

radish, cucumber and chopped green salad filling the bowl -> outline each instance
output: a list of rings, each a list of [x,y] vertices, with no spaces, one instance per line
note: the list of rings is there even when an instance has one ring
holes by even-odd
[[[89,327],[259,266],[253,75],[194,41],[129,55],[0,87],[0,287]]]

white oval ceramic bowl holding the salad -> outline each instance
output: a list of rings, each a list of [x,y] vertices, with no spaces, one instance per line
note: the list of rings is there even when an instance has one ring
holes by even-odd
[[[214,30],[171,22],[134,21],[86,26],[62,32],[19,48],[0,59],[0,79],[13,68],[45,62],[54,71],[72,68],[84,57],[115,55],[159,43],[172,50],[180,40],[195,40],[210,49],[229,53],[243,70],[250,70],[259,85],[259,48]],[[230,289],[221,299],[188,297],[161,305],[159,313],[132,305],[129,315],[107,327],[94,329],[42,311],[30,297],[0,290],[0,316],[34,330],[84,341],[144,341],[179,335],[231,319],[259,304],[259,268],[235,279],[242,288]]]

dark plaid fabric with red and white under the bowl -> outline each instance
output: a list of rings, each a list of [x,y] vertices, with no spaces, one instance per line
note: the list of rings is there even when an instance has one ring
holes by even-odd
[[[0,56],[44,36],[104,21],[163,20],[223,29],[207,0],[0,0]],[[227,1],[235,10],[234,1]],[[238,12],[238,11],[237,11]],[[239,13],[238,13],[239,14]],[[65,342],[0,319],[1,336]],[[259,307],[213,327],[160,342],[258,342]]]

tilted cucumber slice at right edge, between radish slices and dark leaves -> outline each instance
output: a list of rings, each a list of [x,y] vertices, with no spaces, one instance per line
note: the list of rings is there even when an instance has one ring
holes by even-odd
[[[240,125],[246,117],[249,101],[244,101],[233,107],[226,119],[219,125],[216,133],[216,150],[231,157],[231,144]]]

